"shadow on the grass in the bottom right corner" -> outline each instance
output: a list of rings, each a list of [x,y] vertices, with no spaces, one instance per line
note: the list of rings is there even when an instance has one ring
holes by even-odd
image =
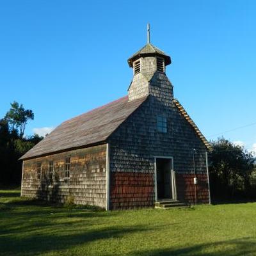
[[[132,252],[129,254],[129,256],[247,256],[255,255],[255,252],[255,238],[247,237],[244,239],[232,239],[215,243],[198,244],[184,248],[168,248]]]

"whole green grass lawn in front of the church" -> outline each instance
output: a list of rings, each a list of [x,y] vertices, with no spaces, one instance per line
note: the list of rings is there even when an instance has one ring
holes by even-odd
[[[256,203],[93,211],[0,190],[0,255],[256,255]]]

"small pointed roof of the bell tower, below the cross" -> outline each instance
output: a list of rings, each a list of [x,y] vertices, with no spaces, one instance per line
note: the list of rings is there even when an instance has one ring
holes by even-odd
[[[140,51],[134,53],[131,58],[128,59],[129,67],[132,67],[132,63],[142,56],[161,56],[164,58],[165,65],[172,63],[170,56],[166,55],[163,51],[156,46],[148,43],[140,49]]]

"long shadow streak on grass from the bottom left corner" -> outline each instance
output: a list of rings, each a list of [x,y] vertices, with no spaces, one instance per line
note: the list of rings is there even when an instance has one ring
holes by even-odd
[[[72,246],[85,245],[99,239],[115,239],[127,234],[143,232],[149,230],[142,226],[122,227],[122,228],[98,228],[97,230],[88,230],[79,232],[72,229],[63,230],[63,235],[56,234],[54,228],[51,233],[33,234],[33,236],[2,236],[1,252],[6,255],[37,255],[56,250],[65,250]],[[78,234],[77,234],[78,233]],[[19,238],[20,237],[20,238]],[[15,246],[13,246],[15,244]]]

